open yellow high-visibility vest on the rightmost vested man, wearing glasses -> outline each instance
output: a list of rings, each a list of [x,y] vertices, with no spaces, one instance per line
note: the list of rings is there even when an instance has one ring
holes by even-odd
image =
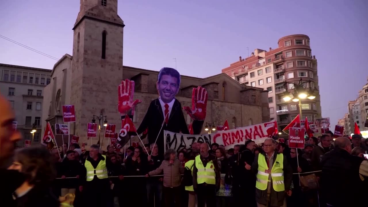
[[[284,155],[276,154],[276,158],[274,157],[273,159],[275,159],[275,162],[271,169],[272,186],[276,192],[281,192],[285,190],[283,171]],[[269,173],[265,173],[266,169],[268,169],[268,166],[265,156],[263,154],[258,154],[258,173],[255,187],[259,190],[266,190],[267,184],[270,182],[270,180],[268,180]]]

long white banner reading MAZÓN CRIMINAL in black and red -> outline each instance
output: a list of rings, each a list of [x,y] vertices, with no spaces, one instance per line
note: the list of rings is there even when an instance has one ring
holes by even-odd
[[[266,138],[276,136],[276,120],[252,126],[240,127],[227,131],[218,131],[211,134],[180,134],[171,131],[164,131],[164,144],[166,149],[175,149],[179,152],[182,149],[190,149],[193,143],[202,141],[211,145],[217,143],[224,145],[225,149],[234,148],[236,144],[244,144],[247,139],[252,139],[256,144],[261,144]]]

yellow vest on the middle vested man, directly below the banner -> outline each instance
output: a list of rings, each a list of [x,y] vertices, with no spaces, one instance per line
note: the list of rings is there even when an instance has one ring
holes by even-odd
[[[203,166],[202,160],[200,158],[201,155],[195,157],[195,166],[197,167],[197,183],[207,183],[207,184],[216,184],[216,173],[215,173],[215,165],[213,165],[212,160],[209,161],[206,167]]]

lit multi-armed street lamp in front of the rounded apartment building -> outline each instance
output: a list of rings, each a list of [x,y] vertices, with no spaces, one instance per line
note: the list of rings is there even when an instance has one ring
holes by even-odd
[[[287,102],[287,101],[294,101],[294,102],[299,102],[299,113],[300,113],[300,117],[302,117],[302,113],[301,113],[301,99],[305,99],[305,98],[308,98],[308,99],[315,99],[316,96],[315,96],[315,90],[305,90],[305,86],[304,84],[305,83],[311,83],[312,81],[302,81],[302,79],[300,78],[299,80],[299,83],[296,84],[296,83],[291,83],[293,84],[293,86],[290,88],[291,90],[294,90],[294,93],[293,93],[293,98],[290,97],[290,93],[289,91],[285,91],[284,92],[284,101]],[[285,84],[287,83],[290,83],[290,82],[286,82]]]

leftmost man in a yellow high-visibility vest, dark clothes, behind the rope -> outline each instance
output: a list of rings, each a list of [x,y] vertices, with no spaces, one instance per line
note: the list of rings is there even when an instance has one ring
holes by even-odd
[[[107,168],[110,168],[111,162],[105,155],[100,154],[99,150],[98,145],[91,145],[89,156],[84,163],[86,176],[82,176],[83,185],[79,186],[79,190],[83,190],[84,206],[88,207],[110,206],[113,199],[107,175]],[[119,178],[123,179],[123,176]]]

